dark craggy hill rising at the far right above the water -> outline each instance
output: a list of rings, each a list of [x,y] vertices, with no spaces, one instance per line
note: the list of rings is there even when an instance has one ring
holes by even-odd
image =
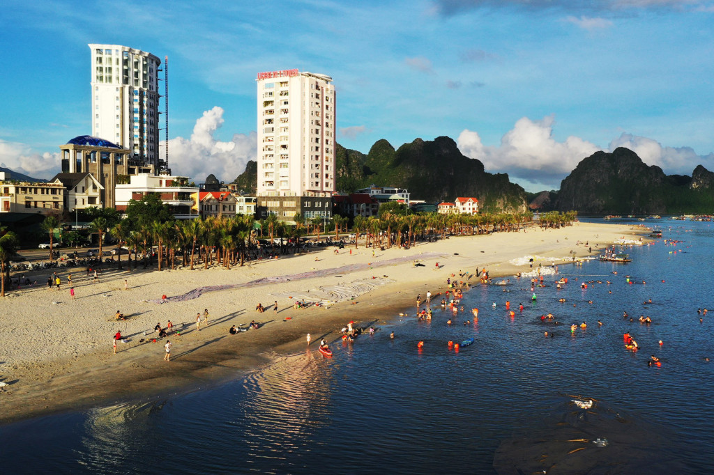
[[[560,183],[555,209],[580,214],[714,213],[714,173],[665,175],[628,148],[595,152]]]

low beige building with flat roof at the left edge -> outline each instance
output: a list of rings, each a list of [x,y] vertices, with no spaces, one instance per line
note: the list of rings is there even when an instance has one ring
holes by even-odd
[[[64,211],[64,185],[0,181],[0,213],[59,214]]]

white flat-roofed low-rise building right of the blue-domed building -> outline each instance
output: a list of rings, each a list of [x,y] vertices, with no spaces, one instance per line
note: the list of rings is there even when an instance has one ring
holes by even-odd
[[[192,195],[198,194],[198,188],[188,186],[188,177],[142,173],[131,175],[129,182],[116,185],[116,210],[124,212],[129,200],[141,200],[154,194],[169,205],[176,219],[198,218],[198,213],[192,212],[196,206]]]

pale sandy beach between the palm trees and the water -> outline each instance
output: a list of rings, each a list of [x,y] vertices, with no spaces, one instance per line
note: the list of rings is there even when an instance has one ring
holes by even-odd
[[[513,278],[531,271],[531,258],[534,267],[548,269],[555,262],[565,270],[574,255],[598,255],[613,242],[639,240],[643,231],[630,225],[575,223],[558,230],[454,236],[374,255],[363,244],[338,253],[333,247],[314,248],[230,270],[129,271],[125,261],[124,270],[103,272],[99,282],[80,268],[25,272],[38,284],[9,290],[0,302],[0,381],[8,384],[0,392],[0,422],[217,384],[281,355],[304,351],[308,332],[309,349],[316,351],[321,338],[335,339],[349,320],[378,327],[403,318],[400,312],[410,306],[408,317],[413,318],[416,295],[443,293],[448,277],[468,281],[459,275],[486,267],[491,277]],[[61,290],[44,285],[54,270]],[[66,285],[69,273],[75,300]],[[469,282],[477,285],[478,279]],[[168,297],[164,302],[162,295]],[[308,307],[294,308],[296,300]],[[256,312],[258,302],[265,312]],[[205,309],[209,322],[202,322],[199,331],[196,313],[203,319]],[[117,310],[126,321],[115,320]],[[181,336],[169,335],[174,347],[171,361],[165,362],[166,339],[153,342],[158,336],[154,327],[157,322],[166,327],[169,320]],[[251,320],[261,327],[228,334],[231,325]],[[117,331],[128,341],[119,342],[114,354]]]

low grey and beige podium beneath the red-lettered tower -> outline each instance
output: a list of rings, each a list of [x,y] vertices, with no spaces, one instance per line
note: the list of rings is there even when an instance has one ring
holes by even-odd
[[[256,219],[276,215],[278,220],[294,225],[296,215],[303,218],[323,218],[325,221],[332,218],[331,196],[258,196],[256,206]]]

